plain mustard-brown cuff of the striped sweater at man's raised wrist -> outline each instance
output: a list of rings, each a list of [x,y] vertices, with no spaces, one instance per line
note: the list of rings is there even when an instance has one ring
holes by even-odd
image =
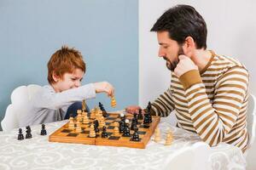
[[[188,89],[192,85],[201,83],[201,77],[198,70],[192,70],[185,72],[181,77],[179,77],[180,82],[183,84],[183,88]]]

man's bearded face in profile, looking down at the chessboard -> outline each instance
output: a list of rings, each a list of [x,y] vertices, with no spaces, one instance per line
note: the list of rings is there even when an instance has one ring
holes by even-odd
[[[166,67],[174,71],[178,63],[177,57],[183,54],[183,48],[169,37],[168,31],[157,32],[157,39],[160,44],[159,57],[166,59]]]

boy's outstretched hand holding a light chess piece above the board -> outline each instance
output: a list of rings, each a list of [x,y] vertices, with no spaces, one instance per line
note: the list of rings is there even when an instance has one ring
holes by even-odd
[[[109,82],[95,82],[93,83],[96,94],[106,93],[109,97],[113,96],[114,88]]]

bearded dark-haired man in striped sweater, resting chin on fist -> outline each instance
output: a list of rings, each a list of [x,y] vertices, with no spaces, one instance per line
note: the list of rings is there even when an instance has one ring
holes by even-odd
[[[177,127],[247,149],[248,72],[240,62],[207,50],[207,25],[195,8],[177,5],[156,21],[159,56],[172,71],[170,88],[152,104],[152,115],[176,110]],[[129,106],[135,112],[138,106]]]

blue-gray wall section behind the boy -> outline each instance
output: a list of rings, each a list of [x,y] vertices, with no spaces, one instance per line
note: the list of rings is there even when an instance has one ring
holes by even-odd
[[[83,83],[113,83],[117,110],[138,103],[137,0],[1,0],[0,121],[16,87],[48,83],[47,62],[63,44],[84,55]],[[88,103],[99,101],[111,110],[103,94]]]

